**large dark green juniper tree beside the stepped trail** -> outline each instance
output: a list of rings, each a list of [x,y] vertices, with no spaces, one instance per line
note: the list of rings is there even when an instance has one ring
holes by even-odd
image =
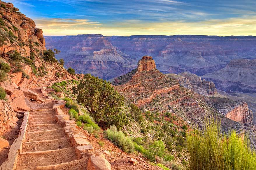
[[[115,124],[118,130],[122,129],[128,123],[126,114],[121,111],[124,97],[106,80],[90,74],[86,74],[84,78],[73,88],[73,93],[78,94],[78,103],[87,108],[96,123],[107,127]]]

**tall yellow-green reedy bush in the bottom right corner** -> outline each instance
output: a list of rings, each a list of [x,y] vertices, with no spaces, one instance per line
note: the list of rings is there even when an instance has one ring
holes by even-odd
[[[202,133],[187,133],[189,170],[255,170],[256,153],[234,131],[222,135],[220,122],[207,121]]]

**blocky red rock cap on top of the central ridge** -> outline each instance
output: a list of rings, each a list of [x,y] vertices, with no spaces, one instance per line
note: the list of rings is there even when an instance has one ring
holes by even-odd
[[[149,71],[156,69],[155,61],[151,56],[143,56],[138,62],[137,71]]]

